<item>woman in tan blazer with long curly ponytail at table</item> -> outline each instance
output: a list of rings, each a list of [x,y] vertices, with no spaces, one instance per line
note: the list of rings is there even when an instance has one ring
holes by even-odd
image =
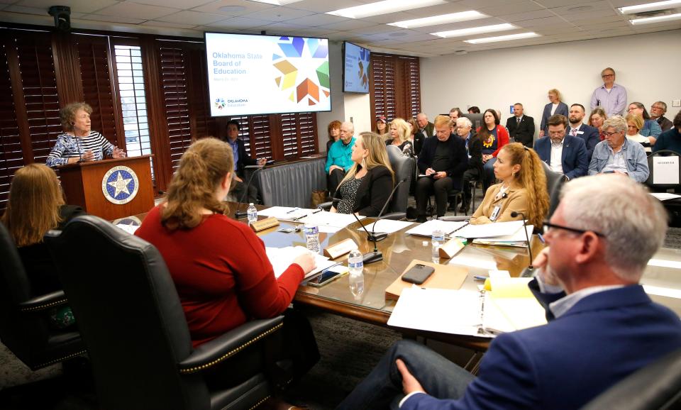
[[[501,183],[487,189],[470,223],[519,220],[521,216],[511,216],[516,211],[526,216],[528,224],[541,226],[549,202],[546,174],[537,153],[521,143],[504,145],[494,162],[494,176]]]

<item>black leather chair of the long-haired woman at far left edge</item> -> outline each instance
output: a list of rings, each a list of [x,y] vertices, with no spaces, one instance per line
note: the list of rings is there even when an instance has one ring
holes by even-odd
[[[62,291],[31,292],[16,245],[0,223],[0,340],[31,370],[85,354],[78,331],[48,326],[48,311],[63,304]]]

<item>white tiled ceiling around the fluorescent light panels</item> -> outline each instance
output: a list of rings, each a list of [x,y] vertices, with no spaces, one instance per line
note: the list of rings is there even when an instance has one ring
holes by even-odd
[[[414,0],[419,1],[419,0]],[[560,43],[589,38],[614,37],[681,28],[681,21],[632,26],[617,7],[655,0],[446,0],[448,4],[411,11],[351,19],[325,14],[368,0],[302,0],[273,6],[249,0],[0,0],[0,21],[52,25],[50,6],[70,6],[74,29],[90,28],[123,32],[203,37],[204,31],[305,35],[350,40],[372,50],[432,57],[511,48],[522,45]],[[461,23],[405,29],[386,23],[476,10],[489,18]],[[681,6],[676,12],[681,12]],[[512,23],[519,28],[466,38],[439,38],[429,33],[458,28]],[[534,31],[541,37],[473,45],[469,38]],[[681,39],[680,39],[681,40]],[[670,52],[672,52],[670,50]]]

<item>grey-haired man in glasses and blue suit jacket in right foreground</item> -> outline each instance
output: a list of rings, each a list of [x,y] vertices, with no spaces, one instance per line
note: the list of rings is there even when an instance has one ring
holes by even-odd
[[[530,284],[548,324],[494,339],[478,377],[399,341],[339,409],[581,408],[681,348],[679,317],[638,284],[666,229],[663,206],[629,178],[565,184]]]

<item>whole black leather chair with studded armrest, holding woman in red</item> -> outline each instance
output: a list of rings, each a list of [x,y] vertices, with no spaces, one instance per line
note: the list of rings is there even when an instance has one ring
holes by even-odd
[[[252,409],[272,388],[267,338],[283,316],[250,321],[192,348],[187,321],[156,248],[96,216],[45,237],[87,346],[102,409]],[[74,251],[79,250],[79,251]],[[209,390],[202,373],[231,369],[243,382]],[[244,368],[247,364],[249,369]]]

